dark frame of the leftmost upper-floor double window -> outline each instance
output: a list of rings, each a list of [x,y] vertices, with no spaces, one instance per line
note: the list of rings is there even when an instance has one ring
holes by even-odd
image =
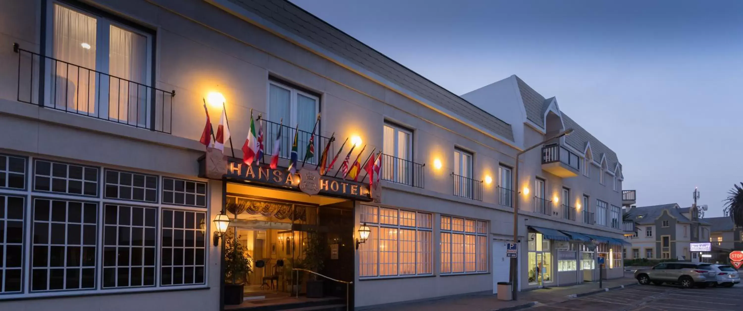
[[[108,68],[108,65],[110,64],[110,56],[109,55],[109,47],[110,40],[108,39],[110,37],[110,30],[108,30],[109,26],[118,27],[122,30],[130,31],[132,33],[137,33],[141,36],[144,36],[146,38],[147,42],[147,48],[146,48],[146,77],[145,81],[141,84],[146,85],[149,88],[154,88],[154,85],[156,84],[156,74],[155,74],[155,68],[156,66],[156,56],[157,56],[157,49],[156,49],[156,43],[157,43],[157,31],[153,30],[152,28],[145,27],[142,24],[139,24],[137,22],[134,22],[129,19],[124,19],[120,16],[117,16],[114,13],[109,13],[106,10],[102,10],[98,7],[91,6],[89,4],[82,3],[80,1],[73,1],[73,0],[42,0],[42,19],[45,22],[45,29],[42,29],[40,31],[40,48],[39,50],[42,50],[45,55],[51,56],[56,59],[56,56],[53,55],[53,48],[54,48],[54,5],[57,4],[61,7],[65,7],[69,10],[74,10],[77,13],[89,16],[91,18],[96,19],[96,65],[95,68],[88,68],[94,71],[98,71],[100,73],[109,75],[110,68]],[[100,33],[100,30],[106,29],[106,34],[103,35],[103,33]],[[105,42],[103,42],[105,39]],[[101,57],[104,56],[105,59],[101,59]],[[82,65],[73,64],[76,66],[82,67]],[[53,72],[51,71],[51,66],[47,66],[48,72],[41,73],[44,76],[44,82],[45,85],[51,85],[52,79],[53,79]],[[126,79],[119,76],[114,76],[119,79]],[[129,79],[126,79],[130,81]],[[107,91],[110,92],[110,85],[106,87]],[[55,91],[56,92],[56,91]],[[98,92],[101,92],[100,89],[98,91],[94,91],[94,97],[95,97],[95,104],[94,104],[94,113],[91,114],[91,116],[104,118],[105,115],[106,120],[112,120],[114,122],[120,122],[124,124],[131,124],[131,120],[127,118],[126,120],[121,120],[119,118],[110,117],[108,107],[106,107],[105,114],[103,114],[104,110],[102,109],[100,105],[100,96]],[[154,92],[154,90],[150,91]],[[41,95],[43,94],[43,96]],[[56,102],[52,103],[51,99],[52,96],[55,96],[54,94],[51,94],[51,88],[45,87],[42,90],[39,90],[39,102],[42,103],[43,107],[50,107],[50,108],[56,108],[58,105]],[[154,98],[155,94],[149,94],[146,96],[146,105],[145,108],[146,111],[149,111],[152,109],[152,105],[155,105],[154,100],[151,100],[151,98]],[[53,104],[53,105],[52,105]],[[73,111],[77,114],[89,114],[87,111],[80,111],[77,108],[68,108],[65,107],[65,110]],[[143,124],[140,124],[137,122],[137,120],[134,120],[134,124],[137,125],[137,127],[146,126],[147,128],[150,127],[152,120],[150,118],[145,118],[145,122]]]

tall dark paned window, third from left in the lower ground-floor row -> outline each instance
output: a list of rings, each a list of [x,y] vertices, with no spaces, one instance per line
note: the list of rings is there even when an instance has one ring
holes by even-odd
[[[103,288],[155,285],[158,209],[106,204],[103,209]]]

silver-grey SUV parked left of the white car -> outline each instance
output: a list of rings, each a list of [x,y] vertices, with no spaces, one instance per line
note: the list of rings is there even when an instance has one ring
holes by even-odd
[[[678,284],[682,288],[707,287],[717,284],[717,272],[709,264],[690,262],[658,263],[651,269],[635,271],[637,282],[643,285]]]

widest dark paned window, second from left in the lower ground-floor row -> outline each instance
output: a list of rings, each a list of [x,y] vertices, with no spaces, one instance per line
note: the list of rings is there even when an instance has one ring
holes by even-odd
[[[94,289],[97,203],[33,199],[31,291]]]

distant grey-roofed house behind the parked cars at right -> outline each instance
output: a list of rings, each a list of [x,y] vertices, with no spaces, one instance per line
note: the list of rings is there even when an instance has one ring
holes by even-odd
[[[635,223],[633,235],[626,240],[627,259],[675,259],[679,261],[706,261],[701,255],[710,251],[694,252],[692,243],[706,243],[710,239],[711,224],[698,217],[697,210],[681,208],[676,203],[656,206],[632,206],[625,209],[626,220]]]

